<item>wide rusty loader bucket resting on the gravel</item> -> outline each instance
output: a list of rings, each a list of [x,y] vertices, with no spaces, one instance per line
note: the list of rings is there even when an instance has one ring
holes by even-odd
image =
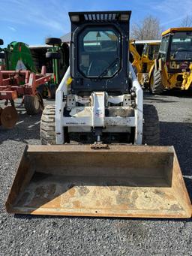
[[[191,216],[172,146],[28,146],[6,208],[36,215]]]

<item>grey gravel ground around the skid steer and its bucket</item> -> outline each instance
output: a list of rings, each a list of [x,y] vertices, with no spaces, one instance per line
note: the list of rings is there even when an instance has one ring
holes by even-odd
[[[192,198],[192,100],[181,93],[151,96],[160,116],[160,143],[174,145]],[[1,255],[192,255],[192,221],[65,218],[8,215],[5,200],[26,143],[40,144],[40,116],[27,116],[12,130],[0,127]]]

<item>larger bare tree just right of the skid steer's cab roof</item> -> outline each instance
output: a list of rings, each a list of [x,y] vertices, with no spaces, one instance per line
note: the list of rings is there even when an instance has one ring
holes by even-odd
[[[130,38],[136,40],[150,40],[160,38],[160,22],[151,15],[145,17],[140,23],[133,23]]]

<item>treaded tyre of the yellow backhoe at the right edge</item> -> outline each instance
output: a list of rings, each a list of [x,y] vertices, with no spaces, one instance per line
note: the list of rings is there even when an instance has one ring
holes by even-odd
[[[150,91],[155,95],[161,95],[163,93],[163,83],[160,71],[153,72],[153,83],[150,83]]]

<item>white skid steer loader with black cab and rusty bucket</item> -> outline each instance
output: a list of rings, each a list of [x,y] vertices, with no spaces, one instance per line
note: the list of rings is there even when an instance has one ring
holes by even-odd
[[[23,152],[7,212],[190,218],[174,149],[142,146],[158,143],[159,124],[128,62],[130,11],[69,16],[71,64],[43,110],[46,145]]]

